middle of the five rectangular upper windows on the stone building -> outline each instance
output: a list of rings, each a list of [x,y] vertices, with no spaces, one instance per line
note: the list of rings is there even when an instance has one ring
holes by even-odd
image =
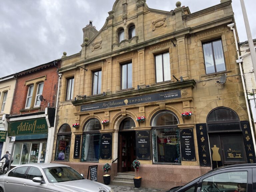
[[[132,63],[123,64],[121,67],[121,89],[132,87]]]

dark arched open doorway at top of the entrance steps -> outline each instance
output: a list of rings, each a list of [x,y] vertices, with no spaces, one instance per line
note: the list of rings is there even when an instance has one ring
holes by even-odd
[[[125,118],[119,126],[119,172],[135,171],[132,162],[136,159],[135,131],[136,127],[132,118]]]

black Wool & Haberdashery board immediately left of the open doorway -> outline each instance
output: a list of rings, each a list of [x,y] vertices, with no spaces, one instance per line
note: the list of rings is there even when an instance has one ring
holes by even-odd
[[[104,133],[100,136],[100,159],[111,159],[112,133]]]

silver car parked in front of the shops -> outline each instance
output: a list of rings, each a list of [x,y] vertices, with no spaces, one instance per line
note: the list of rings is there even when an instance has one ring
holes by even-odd
[[[19,165],[0,176],[0,192],[114,192],[85,179],[73,168],[57,163]]]

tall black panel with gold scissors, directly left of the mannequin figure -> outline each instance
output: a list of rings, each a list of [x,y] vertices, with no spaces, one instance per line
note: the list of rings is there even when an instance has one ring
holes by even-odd
[[[209,140],[206,123],[196,124],[196,136],[200,166],[211,166]]]

